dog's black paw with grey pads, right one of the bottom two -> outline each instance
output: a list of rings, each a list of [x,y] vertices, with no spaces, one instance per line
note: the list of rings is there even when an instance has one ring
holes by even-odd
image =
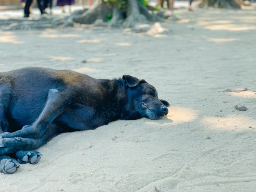
[[[18,151],[16,159],[20,164],[36,164],[40,161],[42,154],[37,151]]]

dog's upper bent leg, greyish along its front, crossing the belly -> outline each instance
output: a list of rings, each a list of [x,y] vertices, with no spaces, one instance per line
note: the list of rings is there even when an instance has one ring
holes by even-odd
[[[60,92],[57,89],[50,89],[46,104],[38,117],[32,125],[26,125],[21,130],[13,133],[3,133],[2,138],[40,138],[46,131],[52,121],[64,112],[72,103],[72,91],[65,90]],[[0,146],[1,147],[1,146]]]

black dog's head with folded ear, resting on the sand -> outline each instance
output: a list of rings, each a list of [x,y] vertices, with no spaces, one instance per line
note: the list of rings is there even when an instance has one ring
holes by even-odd
[[[122,79],[129,104],[141,117],[159,119],[168,114],[167,107],[170,104],[166,100],[158,99],[156,88],[145,80],[130,75],[124,75]]]

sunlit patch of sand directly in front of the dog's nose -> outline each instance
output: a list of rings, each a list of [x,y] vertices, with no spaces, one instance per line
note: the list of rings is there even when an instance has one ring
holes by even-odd
[[[198,111],[184,108],[179,106],[168,107],[169,113],[167,115],[168,119],[171,119],[174,124],[182,122],[191,122],[195,120],[198,116]]]

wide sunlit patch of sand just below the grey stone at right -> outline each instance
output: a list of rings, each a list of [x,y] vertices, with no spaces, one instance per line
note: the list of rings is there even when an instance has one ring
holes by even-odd
[[[241,112],[243,113],[243,112]],[[204,117],[202,123],[205,124],[205,129],[218,130],[243,130],[256,128],[256,119],[249,118],[244,115],[230,117]],[[252,128],[249,128],[251,126]]]

